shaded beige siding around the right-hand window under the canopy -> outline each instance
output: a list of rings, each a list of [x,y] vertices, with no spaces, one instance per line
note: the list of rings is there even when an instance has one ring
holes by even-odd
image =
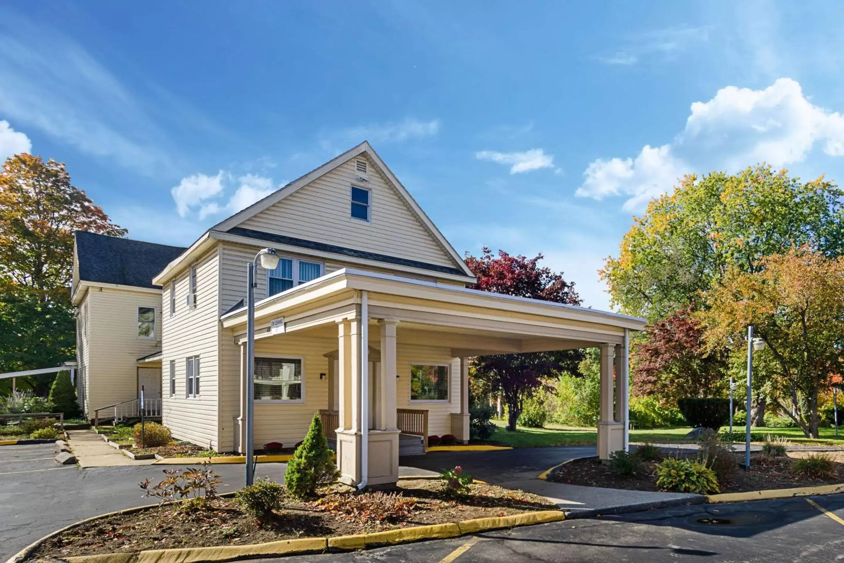
[[[428,434],[442,436],[452,433],[452,413],[460,412],[460,360],[452,358],[451,349],[441,346],[396,343],[399,409],[428,411]],[[410,400],[411,364],[448,364],[449,398],[447,403],[426,403]]]

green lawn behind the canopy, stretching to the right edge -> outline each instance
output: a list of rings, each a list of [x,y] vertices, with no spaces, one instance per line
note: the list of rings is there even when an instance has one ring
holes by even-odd
[[[546,446],[583,446],[594,444],[597,440],[597,432],[594,428],[576,428],[549,424],[545,428],[525,428],[518,426],[515,432],[505,430],[503,420],[493,420],[498,428],[492,436],[492,441],[499,442],[504,446],[511,447],[546,447]],[[653,430],[630,430],[630,441],[658,442],[658,443],[683,443],[685,435],[691,430],[688,426],[674,428],[657,428]],[[744,428],[733,427],[733,430],[741,432]],[[754,434],[782,436],[787,441],[796,444],[814,444],[824,446],[844,446],[844,427],[839,431],[839,437],[835,436],[834,428],[821,428],[820,439],[806,438],[803,431],[798,428],[754,428]]]

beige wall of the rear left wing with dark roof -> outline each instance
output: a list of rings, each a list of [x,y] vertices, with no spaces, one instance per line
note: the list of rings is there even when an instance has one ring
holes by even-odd
[[[138,358],[160,349],[161,295],[90,288],[85,395],[94,410],[138,398]],[[155,338],[138,337],[138,306],[155,308]],[[83,327],[84,329],[84,327]]]

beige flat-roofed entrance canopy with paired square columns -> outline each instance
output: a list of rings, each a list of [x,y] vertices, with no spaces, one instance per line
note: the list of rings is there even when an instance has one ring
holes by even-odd
[[[446,347],[460,359],[459,410],[451,427],[462,441],[468,441],[469,356],[598,347],[598,452],[606,458],[626,447],[628,340],[644,319],[351,268],[258,301],[255,319],[257,341],[292,333],[337,338],[338,466],[349,483],[398,479],[397,342]],[[246,309],[221,322],[235,342],[245,342]],[[380,353],[371,376],[370,346]],[[374,391],[361,401],[369,381]],[[371,423],[365,428],[361,420]]]

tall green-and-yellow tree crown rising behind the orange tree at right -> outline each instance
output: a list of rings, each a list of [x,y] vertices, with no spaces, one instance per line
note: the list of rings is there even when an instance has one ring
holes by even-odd
[[[808,243],[829,257],[844,252],[844,191],[823,177],[801,182],[767,165],[690,175],[634,218],[602,277],[622,312],[657,321],[729,268],[755,272],[762,257]]]

